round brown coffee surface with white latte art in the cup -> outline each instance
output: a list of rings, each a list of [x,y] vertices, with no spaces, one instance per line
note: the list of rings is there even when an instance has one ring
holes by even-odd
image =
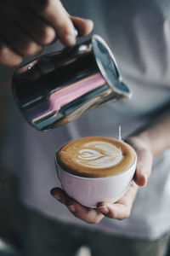
[[[110,137],[82,137],[57,153],[59,166],[81,177],[113,176],[125,172],[133,161],[133,148]]]

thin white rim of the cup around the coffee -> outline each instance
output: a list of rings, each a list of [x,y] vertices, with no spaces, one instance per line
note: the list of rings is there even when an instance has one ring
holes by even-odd
[[[123,141],[123,143],[125,143]],[[61,145],[59,147],[59,149],[57,150],[57,152],[55,153],[55,157],[54,157],[54,163],[55,163],[55,167],[58,168],[59,167],[59,170],[61,170],[62,172],[65,172],[67,175],[70,175],[71,177],[77,177],[77,178],[80,178],[80,179],[84,179],[84,180],[102,180],[102,179],[108,179],[108,178],[111,178],[111,177],[118,177],[118,176],[122,176],[124,173],[127,173],[131,170],[131,168],[133,166],[135,166],[135,170],[136,170],[136,164],[137,164],[137,154],[134,150],[134,148],[129,145],[128,143],[126,143],[132,150],[133,150],[133,154],[134,154],[134,160],[133,160],[133,164],[131,166],[128,167],[128,169],[124,172],[120,172],[116,175],[111,175],[111,176],[107,176],[107,177],[82,177],[82,176],[78,176],[78,175],[74,175],[74,174],[71,174],[70,172],[66,172],[61,166],[59,166],[59,163],[57,161],[57,152],[59,151],[60,148],[62,148],[65,144]],[[135,172],[134,170],[134,172]]]

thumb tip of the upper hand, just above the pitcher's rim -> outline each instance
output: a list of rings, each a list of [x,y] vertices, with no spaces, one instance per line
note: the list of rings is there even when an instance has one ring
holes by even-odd
[[[94,28],[94,22],[92,20],[86,20],[75,16],[71,16],[71,20],[77,28],[79,37],[88,35]]]

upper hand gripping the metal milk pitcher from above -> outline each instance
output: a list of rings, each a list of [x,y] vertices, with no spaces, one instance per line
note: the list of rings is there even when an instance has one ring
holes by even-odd
[[[75,27],[77,31],[75,30]],[[91,32],[93,22],[69,15],[59,0],[0,1],[0,63],[19,65],[59,39],[66,46]]]

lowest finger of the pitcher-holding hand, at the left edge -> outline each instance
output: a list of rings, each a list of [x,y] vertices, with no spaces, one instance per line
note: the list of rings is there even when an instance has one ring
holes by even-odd
[[[23,57],[17,55],[12,49],[0,40],[0,63],[9,67],[19,65],[23,61]]]

